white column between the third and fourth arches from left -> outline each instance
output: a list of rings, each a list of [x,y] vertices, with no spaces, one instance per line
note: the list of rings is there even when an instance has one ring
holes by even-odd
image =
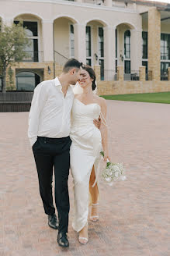
[[[104,29],[104,69],[105,80],[113,80],[116,70],[116,34],[115,27],[107,26]]]

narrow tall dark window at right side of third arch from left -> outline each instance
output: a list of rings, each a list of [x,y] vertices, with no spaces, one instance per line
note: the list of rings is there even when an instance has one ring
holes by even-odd
[[[98,43],[99,43],[99,65],[100,65],[100,79],[104,80],[104,34],[103,28],[99,27],[98,30]]]

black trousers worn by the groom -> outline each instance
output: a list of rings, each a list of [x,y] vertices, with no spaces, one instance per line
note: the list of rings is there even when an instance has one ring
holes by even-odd
[[[47,215],[55,213],[52,195],[53,169],[55,176],[55,203],[58,212],[58,232],[68,232],[68,175],[70,168],[70,137],[38,137],[33,144],[33,155],[38,172],[40,196]]]

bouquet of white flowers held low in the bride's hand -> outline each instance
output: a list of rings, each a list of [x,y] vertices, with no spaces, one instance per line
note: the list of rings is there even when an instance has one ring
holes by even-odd
[[[101,151],[100,154],[104,157],[103,151]],[[123,164],[116,164],[107,160],[106,168],[102,171],[102,179],[109,183],[110,186],[112,186],[113,181],[126,180],[127,177],[124,174],[125,169],[123,168]]]

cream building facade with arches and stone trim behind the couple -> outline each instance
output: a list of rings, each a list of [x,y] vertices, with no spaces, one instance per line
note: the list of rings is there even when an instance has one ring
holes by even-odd
[[[101,94],[170,91],[168,4],[2,0],[0,20],[1,27],[23,20],[30,41],[29,57],[9,68],[9,89],[33,91],[75,57],[94,67]]]

